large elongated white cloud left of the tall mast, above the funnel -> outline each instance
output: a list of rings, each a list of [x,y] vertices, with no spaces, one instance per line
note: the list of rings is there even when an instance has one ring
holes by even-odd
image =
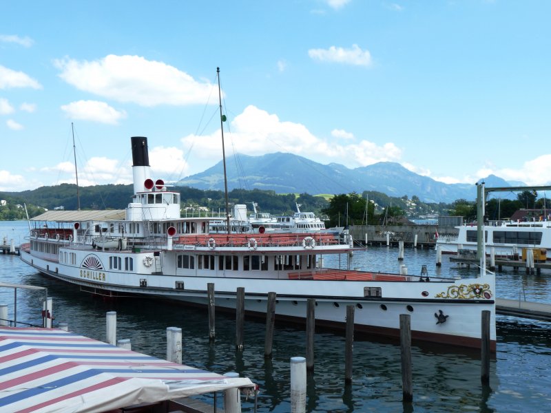
[[[59,76],[77,89],[145,107],[204,105],[213,88],[176,67],[141,56],[110,54],[97,61],[65,58],[54,61],[54,65],[61,70]]]

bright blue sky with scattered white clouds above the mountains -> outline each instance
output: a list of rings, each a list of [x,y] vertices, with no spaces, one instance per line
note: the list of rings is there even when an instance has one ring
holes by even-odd
[[[550,1],[2,1],[0,191],[226,153],[551,182]]]

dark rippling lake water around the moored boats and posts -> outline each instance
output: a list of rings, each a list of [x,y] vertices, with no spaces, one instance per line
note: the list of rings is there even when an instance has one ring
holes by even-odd
[[[0,240],[25,242],[26,222],[0,222]],[[475,277],[475,270],[450,266],[435,251],[406,248],[408,273],[422,265],[431,277]],[[326,262],[328,264],[328,262]],[[337,263],[333,263],[337,264]],[[397,248],[368,248],[354,254],[351,267],[399,271]],[[105,341],[105,313],[117,312],[118,339],[131,339],[132,349],[165,358],[166,328],[183,330],[183,363],[223,374],[236,371],[260,385],[259,412],[289,412],[289,359],[305,355],[303,328],[276,325],[271,361],[264,360],[264,323],[246,319],[245,348],[235,350],[235,317],[216,314],[216,340],[209,342],[207,311],[147,299],[104,301],[79,288],[40,275],[18,256],[0,255],[0,281],[48,288],[53,297],[54,326]],[[497,296],[526,297],[551,303],[551,275],[523,271],[497,274]],[[19,291],[17,319],[41,324],[43,293]],[[0,288],[0,304],[13,315],[13,292]],[[400,350],[395,342],[358,339],[354,343],[353,383],[344,385],[344,337],[315,334],[315,370],[308,377],[308,412],[542,412],[551,405],[551,324],[497,316],[497,357],[490,363],[490,386],[480,383],[477,351],[444,346],[413,346],[413,403],[402,403]],[[219,399],[222,399],[221,397]],[[253,411],[251,400],[242,403]]]

